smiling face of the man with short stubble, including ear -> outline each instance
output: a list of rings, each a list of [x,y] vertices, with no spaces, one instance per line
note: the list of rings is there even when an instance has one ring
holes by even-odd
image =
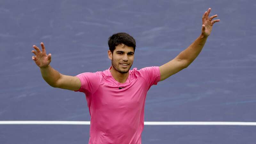
[[[113,53],[108,50],[108,58],[112,62],[112,67],[119,73],[125,74],[129,72],[133,64],[134,51],[133,47],[119,44]],[[124,65],[122,65],[124,64]]]

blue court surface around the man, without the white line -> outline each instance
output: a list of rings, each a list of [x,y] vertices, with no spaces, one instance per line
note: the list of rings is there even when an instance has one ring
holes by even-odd
[[[145,122],[256,122],[253,0],[1,0],[0,123],[90,121],[84,93],[53,88],[32,60],[44,42],[63,75],[108,69],[108,37],[136,40],[132,68],[161,66],[213,25],[196,60],[153,85]],[[131,69],[132,69],[131,68]],[[86,144],[90,125],[0,124],[0,144]],[[255,125],[145,125],[143,144],[255,144]]]

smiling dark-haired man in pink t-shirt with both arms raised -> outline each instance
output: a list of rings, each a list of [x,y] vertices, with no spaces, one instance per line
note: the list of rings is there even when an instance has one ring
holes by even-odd
[[[91,115],[89,144],[141,144],[144,128],[144,105],[149,88],[159,81],[187,68],[201,52],[212,25],[220,20],[209,18],[211,8],[203,15],[201,35],[186,50],[160,67],[130,70],[136,42],[126,33],[108,39],[108,58],[112,65],[105,71],[86,72],[77,76],[60,74],[50,66],[46,55],[33,45],[32,56],[44,80],[52,87],[84,92]]]

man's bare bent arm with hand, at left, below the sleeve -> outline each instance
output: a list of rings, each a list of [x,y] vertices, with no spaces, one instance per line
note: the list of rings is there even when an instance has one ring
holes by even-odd
[[[42,52],[40,49],[33,45],[36,51],[32,50],[36,56],[32,56],[32,60],[40,68],[44,80],[52,87],[76,91],[81,87],[80,79],[75,76],[66,76],[60,74],[57,70],[50,66],[51,54],[46,54],[44,43],[41,43]]]

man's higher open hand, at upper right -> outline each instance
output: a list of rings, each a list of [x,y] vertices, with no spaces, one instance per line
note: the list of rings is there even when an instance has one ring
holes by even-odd
[[[211,34],[212,31],[212,25],[215,22],[219,22],[220,20],[212,20],[213,18],[216,18],[218,15],[213,15],[209,18],[209,14],[211,12],[211,8],[208,9],[208,11],[204,12],[204,15],[202,17],[203,19],[203,25],[202,25],[202,35],[207,37]]]

